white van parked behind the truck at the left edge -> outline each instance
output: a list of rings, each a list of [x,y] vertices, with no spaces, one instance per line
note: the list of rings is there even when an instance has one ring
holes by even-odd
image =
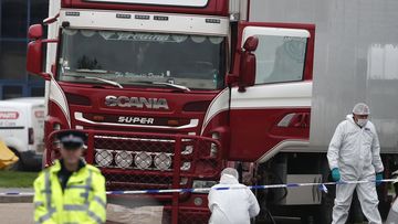
[[[44,113],[43,97],[0,100],[0,139],[20,158],[17,169],[41,167]]]

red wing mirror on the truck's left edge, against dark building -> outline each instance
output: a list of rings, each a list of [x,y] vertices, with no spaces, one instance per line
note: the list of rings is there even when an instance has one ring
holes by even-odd
[[[43,26],[34,24],[29,28],[28,36],[33,39],[28,44],[27,51],[27,71],[30,74],[39,75],[44,79],[51,79],[51,75],[44,73],[43,68]]]

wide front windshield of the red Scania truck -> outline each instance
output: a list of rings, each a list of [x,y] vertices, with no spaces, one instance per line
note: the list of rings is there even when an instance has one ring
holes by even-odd
[[[219,89],[226,38],[63,29],[57,67],[63,82]]]

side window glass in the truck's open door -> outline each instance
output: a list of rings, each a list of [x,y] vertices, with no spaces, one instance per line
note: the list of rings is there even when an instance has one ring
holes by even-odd
[[[306,38],[258,35],[255,84],[303,79]]]

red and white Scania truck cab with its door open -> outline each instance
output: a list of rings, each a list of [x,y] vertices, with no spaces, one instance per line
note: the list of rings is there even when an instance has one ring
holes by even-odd
[[[108,190],[205,188],[228,161],[307,142],[313,25],[237,25],[226,0],[60,6],[50,39],[33,25],[28,47],[28,71],[46,79],[48,164],[54,134],[82,129]],[[207,194],[154,198],[172,223],[208,218]]]

